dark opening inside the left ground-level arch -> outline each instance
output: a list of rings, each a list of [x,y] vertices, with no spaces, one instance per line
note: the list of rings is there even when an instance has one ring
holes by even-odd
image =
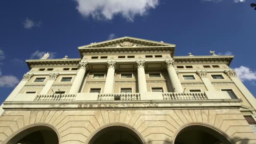
[[[59,138],[52,128],[40,125],[19,132],[7,144],[59,144]]]

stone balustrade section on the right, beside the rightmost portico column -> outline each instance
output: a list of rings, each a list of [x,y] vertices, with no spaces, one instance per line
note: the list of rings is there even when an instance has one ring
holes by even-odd
[[[163,93],[164,100],[208,99],[205,93]]]

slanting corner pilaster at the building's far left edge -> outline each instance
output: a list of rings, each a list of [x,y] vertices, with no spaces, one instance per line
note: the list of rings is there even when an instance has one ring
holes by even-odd
[[[21,89],[24,87],[27,81],[29,81],[31,77],[33,77],[33,75],[34,74],[23,75],[21,82],[19,82],[19,84],[16,86],[16,88],[14,88],[14,90],[11,92],[11,94],[7,97],[5,101],[12,101],[17,96],[17,94],[21,91]]]

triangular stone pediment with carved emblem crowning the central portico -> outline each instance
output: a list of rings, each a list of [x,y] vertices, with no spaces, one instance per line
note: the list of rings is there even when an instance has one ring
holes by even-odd
[[[91,43],[89,45],[83,45],[78,47],[83,48],[121,48],[121,47],[157,47],[157,46],[168,46],[175,47],[174,44],[157,42],[152,40],[144,40],[135,37],[120,37],[112,40],[107,40],[99,43]]]

